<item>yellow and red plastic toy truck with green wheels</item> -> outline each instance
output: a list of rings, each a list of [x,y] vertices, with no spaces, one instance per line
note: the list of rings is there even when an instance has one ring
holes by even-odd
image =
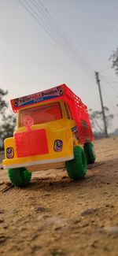
[[[95,153],[87,106],[65,84],[11,101],[17,129],[4,141],[4,169],[12,184],[30,183],[33,171],[66,168],[82,179]]]

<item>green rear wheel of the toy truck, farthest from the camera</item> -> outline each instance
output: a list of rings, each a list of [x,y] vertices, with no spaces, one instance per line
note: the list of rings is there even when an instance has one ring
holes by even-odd
[[[96,158],[94,145],[92,143],[85,143],[84,144],[84,153],[87,158],[87,164],[93,164]]]

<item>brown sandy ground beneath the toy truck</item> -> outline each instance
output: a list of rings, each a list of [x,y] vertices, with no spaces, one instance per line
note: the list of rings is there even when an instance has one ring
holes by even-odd
[[[94,146],[83,180],[57,169],[17,188],[0,170],[0,255],[118,255],[118,137]]]

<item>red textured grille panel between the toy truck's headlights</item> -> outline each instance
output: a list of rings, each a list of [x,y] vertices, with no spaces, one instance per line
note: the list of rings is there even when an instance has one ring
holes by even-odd
[[[17,158],[24,158],[36,154],[47,154],[46,131],[37,129],[14,134]]]

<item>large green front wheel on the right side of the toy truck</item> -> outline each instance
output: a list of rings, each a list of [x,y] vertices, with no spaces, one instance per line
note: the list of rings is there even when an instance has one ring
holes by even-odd
[[[74,159],[66,161],[68,176],[72,180],[83,179],[87,173],[87,159],[81,147],[76,146],[73,149]]]

